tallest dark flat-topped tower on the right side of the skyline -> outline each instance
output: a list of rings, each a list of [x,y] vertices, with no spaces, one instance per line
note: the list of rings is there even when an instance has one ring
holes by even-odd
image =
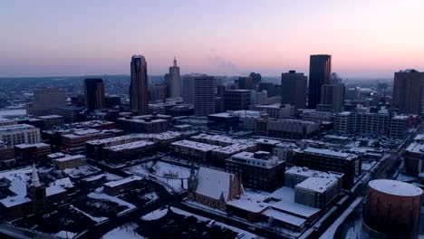
[[[330,84],[331,73],[331,55],[311,55],[309,62],[308,108],[315,109],[316,105],[320,103],[321,86]]]

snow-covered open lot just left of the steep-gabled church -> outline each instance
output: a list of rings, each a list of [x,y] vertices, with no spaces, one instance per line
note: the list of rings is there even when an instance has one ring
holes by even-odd
[[[149,173],[149,168],[154,170],[154,173]],[[160,182],[171,186],[174,190],[182,192],[188,187],[188,177],[190,176],[190,168],[171,165],[169,163],[158,161],[155,165],[153,162],[129,167],[128,171],[135,175],[145,177],[155,177]],[[184,188],[181,187],[181,179]]]

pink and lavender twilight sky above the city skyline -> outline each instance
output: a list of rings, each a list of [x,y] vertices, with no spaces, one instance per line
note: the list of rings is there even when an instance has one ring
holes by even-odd
[[[332,55],[342,77],[424,71],[423,0],[14,0],[0,3],[0,77],[130,74],[278,76]]]

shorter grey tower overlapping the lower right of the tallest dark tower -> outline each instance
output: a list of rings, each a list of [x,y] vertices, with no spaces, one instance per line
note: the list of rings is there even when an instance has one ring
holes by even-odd
[[[343,110],[344,102],[344,85],[343,84],[323,84],[321,86],[321,104],[327,109],[334,112]]]

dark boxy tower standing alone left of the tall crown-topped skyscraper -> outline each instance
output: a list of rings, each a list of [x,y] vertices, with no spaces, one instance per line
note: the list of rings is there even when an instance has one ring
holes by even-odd
[[[84,80],[85,107],[87,110],[104,108],[104,83],[100,78]]]

